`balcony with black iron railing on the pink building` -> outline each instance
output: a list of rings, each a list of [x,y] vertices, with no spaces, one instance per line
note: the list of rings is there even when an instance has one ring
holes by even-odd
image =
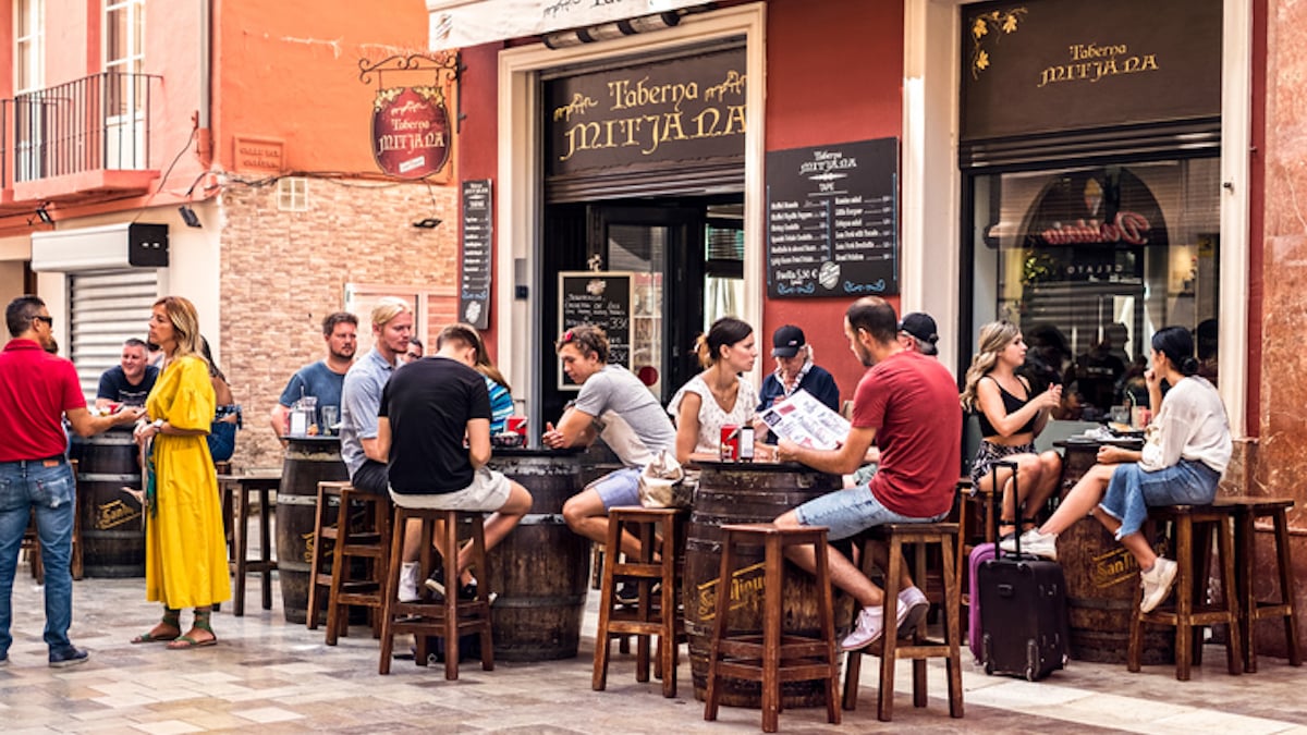
[[[3,204],[141,195],[150,169],[154,75],[102,72],[20,94],[0,107]]]

